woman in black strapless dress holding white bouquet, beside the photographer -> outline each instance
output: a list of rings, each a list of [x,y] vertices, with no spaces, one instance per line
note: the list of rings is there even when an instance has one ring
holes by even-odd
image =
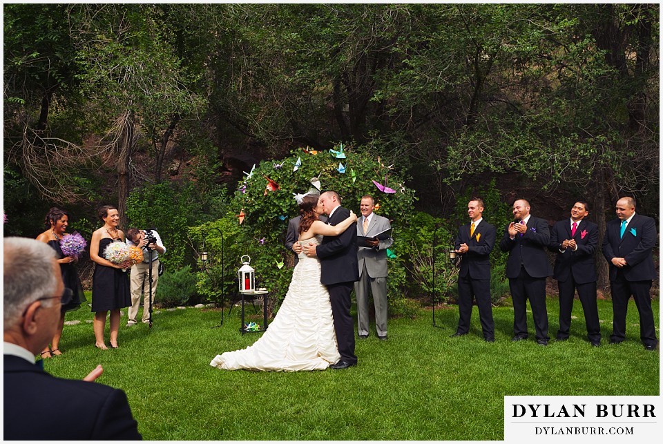
[[[106,314],[111,311],[111,348],[117,349],[119,333],[119,309],[131,305],[129,278],[126,269],[129,264],[113,264],[104,258],[104,249],[111,242],[124,242],[124,233],[117,228],[119,213],[115,206],[104,205],[97,210],[104,226],[92,233],[90,259],[95,262],[92,277],[92,311],[95,313],[95,347],[107,350],[104,340]]]

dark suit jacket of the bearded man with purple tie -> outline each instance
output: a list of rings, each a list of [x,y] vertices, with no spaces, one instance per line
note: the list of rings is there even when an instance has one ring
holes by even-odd
[[[527,221],[527,233],[516,235],[514,240],[509,237],[509,227],[504,230],[499,248],[509,252],[506,262],[506,277],[517,278],[521,266],[525,267],[532,278],[546,278],[553,274],[548,263],[546,247],[550,243],[550,228],[548,222],[530,215]]]

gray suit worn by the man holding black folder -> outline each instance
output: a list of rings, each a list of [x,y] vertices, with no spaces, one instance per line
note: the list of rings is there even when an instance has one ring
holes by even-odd
[[[389,220],[372,213],[366,233],[363,230],[364,218],[357,221],[358,236],[374,236],[391,228]],[[387,248],[394,240],[390,237],[381,240],[375,248],[359,247],[357,260],[359,265],[359,281],[354,283],[357,297],[357,319],[359,337],[368,336],[368,298],[373,293],[375,305],[375,327],[378,337],[387,337]]]

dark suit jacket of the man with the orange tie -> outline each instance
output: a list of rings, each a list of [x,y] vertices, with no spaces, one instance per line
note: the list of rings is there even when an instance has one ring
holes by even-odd
[[[471,222],[461,226],[456,238],[456,249],[459,249],[461,244],[468,244],[469,248],[468,252],[463,254],[459,275],[464,278],[470,273],[472,279],[490,279],[490,252],[495,246],[497,229],[482,219],[479,225],[474,227],[474,235],[470,238],[470,224]]]

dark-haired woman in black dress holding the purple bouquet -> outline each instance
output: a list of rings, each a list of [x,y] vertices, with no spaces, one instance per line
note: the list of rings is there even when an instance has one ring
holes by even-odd
[[[41,351],[42,358],[50,358],[51,356],[62,354],[59,350],[59,343],[62,336],[62,328],[64,327],[64,313],[79,309],[86,299],[83,287],[81,286],[81,280],[78,278],[78,273],[73,264],[78,258],[75,256],[66,256],[60,249],[60,240],[66,235],[67,227],[69,226],[69,213],[54,206],[46,214],[44,224],[46,225],[46,231],[38,235],[37,240],[48,244],[49,247],[57,252],[57,263],[60,264],[62,282],[64,282],[64,287],[70,289],[73,293],[70,302],[62,305],[60,320],[57,325],[57,331],[55,331],[55,335],[51,340],[51,346],[48,347],[46,345],[44,351]]]

